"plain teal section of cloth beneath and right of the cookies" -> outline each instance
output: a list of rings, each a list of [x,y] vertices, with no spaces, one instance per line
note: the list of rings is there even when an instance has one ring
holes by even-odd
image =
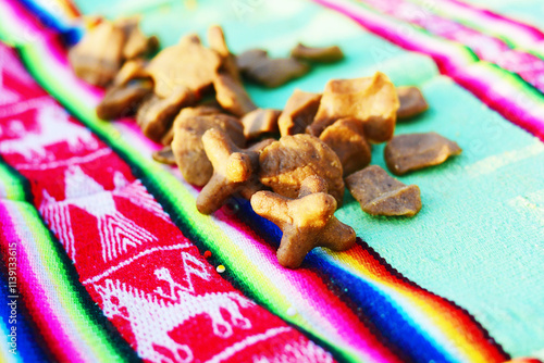
[[[441,76],[430,58],[308,1],[198,1],[195,9],[183,1],[75,2],[86,14],[112,18],[141,13],[144,30],[162,46],[187,33],[205,40],[207,27],[221,24],[235,53],[259,47],[286,57],[298,41],[344,50],[343,62],[277,89],[248,85],[262,108],[282,109],[295,88],[321,91],[331,78],[376,70],[397,86],[421,87],[430,110],[398,123],[396,134],[437,132],[462,154],[399,177],[421,188],[423,209],[413,218],[370,216],[348,193],[336,215],[404,276],[467,309],[510,354],[544,355],[543,142]],[[535,23],[544,18],[536,0],[471,2]],[[385,168],[383,147],[373,147],[372,164]]]

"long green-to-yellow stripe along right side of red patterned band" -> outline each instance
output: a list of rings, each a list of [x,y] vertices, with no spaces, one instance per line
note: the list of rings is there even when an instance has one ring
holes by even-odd
[[[222,275],[225,279],[282,320],[297,326],[334,353],[336,359],[360,361],[354,350],[339,347],[337,341],[331,341],[300,315],[287,315],[286,311],[290,302],[284,293],[257,267],[254,261],[244,254],[212,221],[211,216],[198,213],[195,198],[180,180],[157,163],[143,157],[138,150],[120,137],[120,133],[110,123],[98,118],[94,109],[90,109],[84,100],[74,97],[70,89],[64,88],[62,82],[59,82],[47,70],[44,63],[46,57],[32,45],[20,47],[18,51],[27,70],[41,87],[131,165],[133,174],[170,214],[172,222],[185,237],[190,239],[200,252],[210,250],[214,256],[210,262],[217,262],[215,264],[223,264],[226,267],[226,272]]]

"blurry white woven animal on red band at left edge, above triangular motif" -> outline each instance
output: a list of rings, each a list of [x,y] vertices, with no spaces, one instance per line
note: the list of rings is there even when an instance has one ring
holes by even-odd
[[[21,121],[16,118],[10,121],[4,126],[8,129],[4,129],[2,134],[9,134],[10,128],[15,128],[13,132],[17,132],[22,136],[16,139],[3,140],[0,143],[1,153],[17,153],[27,162],[37,163],[55,160],[54,152],[49,152],[47,148],[60,142],[66,142],[71,153],[95,150],[99,147],[92,134],[87,128],[72,123],[69,114],[58,104],[49,102],[49,104],[38,105],[35,111],[39,132],[24,130]]]

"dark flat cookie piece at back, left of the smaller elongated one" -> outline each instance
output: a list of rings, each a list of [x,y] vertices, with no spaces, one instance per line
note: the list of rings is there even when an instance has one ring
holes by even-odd
[[[267,51],[248,50],[237,57],[236,63],[243,75],[270,88],[280,87],[301,77],[310,66],[294,58],[269,58]]]

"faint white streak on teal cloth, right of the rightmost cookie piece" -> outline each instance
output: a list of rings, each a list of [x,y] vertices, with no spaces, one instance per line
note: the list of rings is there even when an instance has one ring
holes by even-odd
[[[487,157],[473,164],[467,165],[466,170],[471,177],[487,175],[496,170],[515,164],[522,160],[539,155],[544,152],[544,143],[536,141],[528,147],[506,151],[496,155]]]

